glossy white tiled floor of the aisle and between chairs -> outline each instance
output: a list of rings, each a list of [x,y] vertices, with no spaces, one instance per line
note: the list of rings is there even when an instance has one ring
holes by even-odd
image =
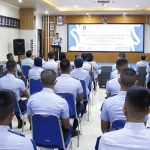
[[[104,101],[105,89],[97,88],[97,92],[94,94],[93,106],[91,106],[90,120],[87,121],[87,114],[82,118],[82,135],[80,136],[80,145],[77,147],[77,137],[72,138],[73,150],[94,150],[95,142],[98,136],[102,134],[100,128],[100,107]],[[32,137],[31,131],[29,130],[29,122],[26,119],[27,124],[25,125],[24,134],[28,137]],[[147,126],[150,126],[148,121]],[[16,117],[13,119],[13,129],[17,129]],[[45,149],[44,149],[45,150]]]

